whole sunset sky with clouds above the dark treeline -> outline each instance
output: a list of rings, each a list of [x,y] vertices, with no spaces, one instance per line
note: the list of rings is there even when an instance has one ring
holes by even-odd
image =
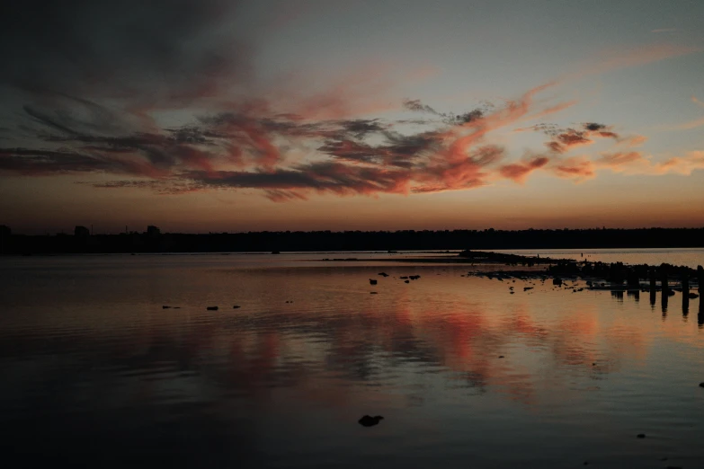
[[[704,226],[704,2],[3,16],[13,233]]]

